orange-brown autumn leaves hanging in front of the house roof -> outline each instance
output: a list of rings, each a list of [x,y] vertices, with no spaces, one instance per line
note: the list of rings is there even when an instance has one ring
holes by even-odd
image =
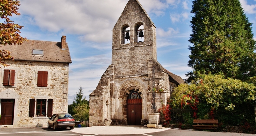
[[[19,45],[22,43],[22,41],[26,40],[26,38],[21,37],[19,34],[22,26],[15,24],[9,18],[13,14],[20,15],[20,13],[18,13],[18,6],[20,6],[20,1],[0,0],[0,48],[2,48],[0,50],[0,64],[2,64],[4,67],[8,65],[2,61],[3,59],[14,60],[14,58],[10,55],[9,51],[4,50],[3,45]]]

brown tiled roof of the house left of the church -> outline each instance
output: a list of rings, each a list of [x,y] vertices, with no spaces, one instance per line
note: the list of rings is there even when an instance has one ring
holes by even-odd
[[[63,44],[65,46],[61,49],[61,42],[27,40],[21,45],[2,45],[2,49],[10,51],[14,60],[72,63],[68,44]],[[43,50],[43,55],[32,55],[33,49]]]

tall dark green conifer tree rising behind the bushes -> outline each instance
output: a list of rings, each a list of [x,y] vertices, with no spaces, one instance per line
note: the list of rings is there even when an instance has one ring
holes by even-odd
[[[239,0],[193,0],[187,81],[197,73],[247,80],[256,74],[255,40]]]

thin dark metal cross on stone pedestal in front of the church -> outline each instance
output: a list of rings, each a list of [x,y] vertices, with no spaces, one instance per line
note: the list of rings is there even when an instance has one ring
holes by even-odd
[[[151,105],[151,109],[154,111],[154,113],[156,113],[156,103],[155,103],[155,97],[156,97],[156,90],[155,90],[155,80],[164,80],[163,78],[155,78],[155,62],[153,63],[153,67],[152,67],[152,78],[148,78],[148,79],[144,79],[144,81],[150,81],[152,80],[152,94],[153,94],[153,102]]]

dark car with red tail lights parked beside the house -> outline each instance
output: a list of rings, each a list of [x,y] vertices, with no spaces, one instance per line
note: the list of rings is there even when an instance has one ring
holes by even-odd
[[[70,128],[74,129],[75,119],[68,113],[59,113],[53,114],[52,117],[48,120],[48,128],[53,127],[53,130],[56,131],[57,128]]]

